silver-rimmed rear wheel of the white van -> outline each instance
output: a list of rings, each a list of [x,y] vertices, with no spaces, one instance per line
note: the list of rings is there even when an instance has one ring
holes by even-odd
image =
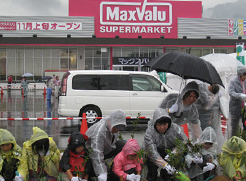
[[[101,117],[102,113],[98,107],[89,106],[83,110],[83,113],[86,114],[86,117]],[[83,115],[83,114],[82,114]],[[87,119],[88,126],[95,124],[100,119]]]

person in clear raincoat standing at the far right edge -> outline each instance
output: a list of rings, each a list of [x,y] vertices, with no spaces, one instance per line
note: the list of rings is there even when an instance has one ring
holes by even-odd
[[[246,89],[245,89],[245,79],[246,79],[246,67],[241,67],[237,72],[237,77],[230,82],[229,86],[229,111],[230,118],[228,122],[228,137],[236,135],[239,120],[241,118],[241,109],[244,107],[246,101]]]

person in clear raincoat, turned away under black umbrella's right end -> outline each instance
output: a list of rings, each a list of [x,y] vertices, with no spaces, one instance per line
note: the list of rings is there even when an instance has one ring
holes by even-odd
[[[221,152],[221,148],[224,143],[220,114],[223,112],[223,106],[220,106],[220,101],[222,101],[220,98],[222,97],[222,94],[219,93],[219,86],[217,84],[208,85],[206,83],[199,84],[199,93],[200,96],[195,105],[198,109],[201,128],[202,130],[207,127],[212,127],[214,129],[218,140],[220,140],[218,152]],[[224,106],[228,106],[228,101],[227,105]]]

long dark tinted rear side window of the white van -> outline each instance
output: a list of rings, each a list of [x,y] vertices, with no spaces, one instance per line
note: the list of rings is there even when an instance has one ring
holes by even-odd
[[[128,75],[75,75],[72,88],[77,90],[129,90]]]

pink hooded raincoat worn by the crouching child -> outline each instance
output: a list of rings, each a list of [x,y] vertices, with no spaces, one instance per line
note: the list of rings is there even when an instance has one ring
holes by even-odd
[[[136,171],[142,170],[141,164],[143,164],[142,159],[134,159],[129,160],[127,158],[127,155],[136,154],[140,150],[140,147],[138,145],[137,140],[135,139],[129,139],[125,146],[123,147],[122,151],[116,155],[114,158],[114,166],[113,171],[115,174],[117,174],[119,177],[122,176],[124,180],[126,180],[127,173],[124,171],[135,169]]]

